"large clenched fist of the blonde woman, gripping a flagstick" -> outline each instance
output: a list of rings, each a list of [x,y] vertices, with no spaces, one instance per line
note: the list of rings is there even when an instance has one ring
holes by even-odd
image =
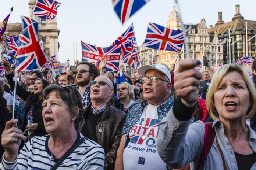
[[[174,88],[177,96],[187,107],[193,107],[198,101],[198,90],[202,74],[195,70],[200,61],[187,59],[179,63],[174,76]]]

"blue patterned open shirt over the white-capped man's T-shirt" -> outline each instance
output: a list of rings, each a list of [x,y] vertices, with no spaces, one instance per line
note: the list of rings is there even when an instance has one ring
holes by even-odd
[[[130,130],[141,117],[143,109],[147,104],[148,104],[147,100],[143,100],[140,104],[136,104],[134,107],[132,107],[131,110],[128,112],[126,122],[122,129],[122,135],[126,133],[125,142],[124,142],[125,147],[128,145],[130,141],[130,138],[129,138]],[[162,103],[159,107],[157,107],[158,129],[160,128],[161,120],[163,119],[163,117],[167,115],[167,113],[169,112],[172,106],[173,106],[173,97],[170,96],[166,101],[164,101],[164,103]]]

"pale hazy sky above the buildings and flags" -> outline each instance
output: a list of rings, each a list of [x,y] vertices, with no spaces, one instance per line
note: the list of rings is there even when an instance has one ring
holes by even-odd
[[[174,0],[150,0],[124,25],[115,14],[111,0],[59,0],[57,13],[60,35],[59,61],[73,63],[73,42],[77,42],[77,58],[81,60],[81,43],[84,41],[99,47],[109,46],[133,22],[138,45],[145,39],[147,25],[154,22],[166,26],[168,14],[173,10]],[[224,22],[235,15],[235,5],[240,4],[240,13],[248,20],[256,20],[256,0],[178,0],[184,23],[199,23],[205,18],[206,25],[215,25],[218,12],[222,11]],[[9,23],[21,23],[21,15],[29,16],[29,0],[1,0],[0,22],[10,12]]]

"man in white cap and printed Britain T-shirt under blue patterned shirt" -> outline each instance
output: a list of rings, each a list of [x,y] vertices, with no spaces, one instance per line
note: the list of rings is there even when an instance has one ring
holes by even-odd
[[[161,64],[144,65],[138,72],[144,76],[142,82],[146,100],[132,107],[128,113],[115,170],[165,170],[166,164],[157,153],[156,139],[162,118],[173,106],[171,74]]]

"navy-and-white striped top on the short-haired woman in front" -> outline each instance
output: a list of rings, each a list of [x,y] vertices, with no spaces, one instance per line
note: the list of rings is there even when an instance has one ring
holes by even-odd
[[[78,139],[81,133],[78,133]],[[57,162],[57,159],[50,160],[51,152],[48,148],[50,136],[33,137],[21,149],[20,154],[14,162],[7,162],[2,158],[1,170],[45,170]],[[68,167],[68,168],[67,168]],[[79,145],[58,167],[58,170],[103,170],[104,149],[92,140],[87,139]]]

